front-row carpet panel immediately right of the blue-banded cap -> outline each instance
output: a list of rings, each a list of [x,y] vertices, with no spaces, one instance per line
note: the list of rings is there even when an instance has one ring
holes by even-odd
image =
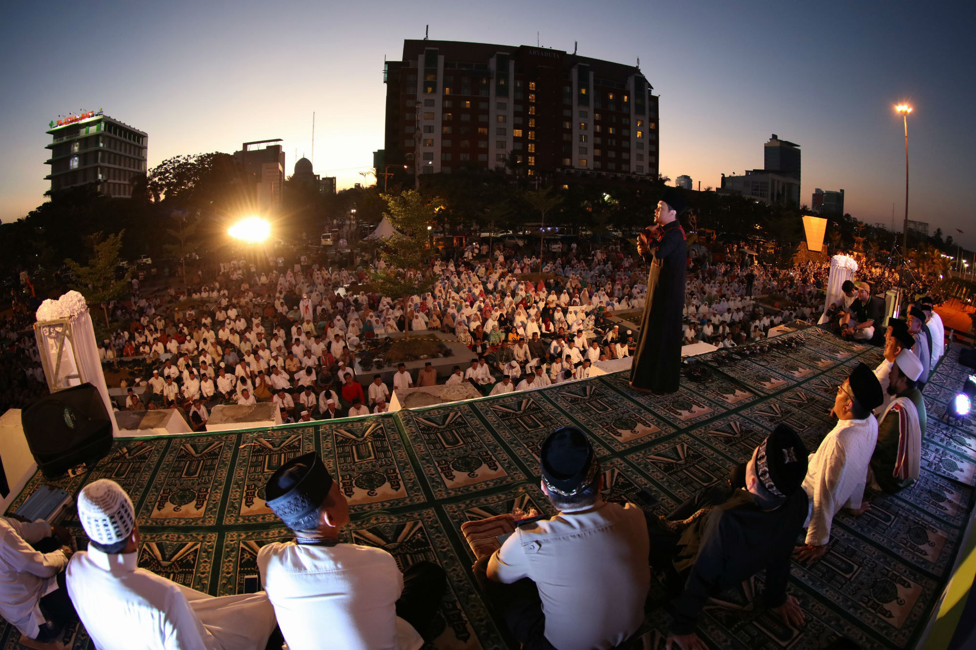
[[[322,425],[319,442],[353,513],[427,501],[392,416]]]

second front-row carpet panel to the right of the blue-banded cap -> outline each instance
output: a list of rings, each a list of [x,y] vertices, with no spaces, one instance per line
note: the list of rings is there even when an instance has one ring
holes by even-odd
[[[435,499],[527,478],[468,404],[406,412],[401,422]]]

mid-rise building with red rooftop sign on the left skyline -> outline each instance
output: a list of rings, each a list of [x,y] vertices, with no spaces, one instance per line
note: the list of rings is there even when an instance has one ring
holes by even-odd
[[[132,196],[133,177],[146,172],[148,136],[144,131],[109,117],[86,111],[48,123],[51,142],[51,193],[68,187],[96,184],[105,196]]]

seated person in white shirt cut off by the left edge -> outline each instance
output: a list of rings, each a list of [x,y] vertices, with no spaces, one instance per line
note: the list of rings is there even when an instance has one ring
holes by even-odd
[[[22,639],[49,643],[77,618],[64,586],[70,541],[67,530],[43,519],[0,517],[0,616]]]

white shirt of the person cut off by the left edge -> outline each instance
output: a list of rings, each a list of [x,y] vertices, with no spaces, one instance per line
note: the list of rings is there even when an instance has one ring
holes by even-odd
[[[0,517],[0,615],[30,638],[45,623],[38,603],[58,589],[57,576],[67,564],[60,549],[40,553],[30,546],[50,535],[43,519],[24,523]]]

